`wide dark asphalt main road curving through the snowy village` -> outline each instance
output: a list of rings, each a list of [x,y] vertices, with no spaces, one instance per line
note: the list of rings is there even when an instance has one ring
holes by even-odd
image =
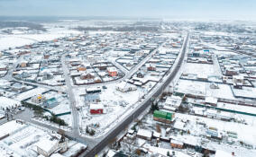
[[[151,91],[145,100],[142,101],[142,104],[138,106],[136,109],[133,109],[133,112],[128,115],[127,117],[123,118],[123,120],[116,126],[114,126],[113,129],[111,129],[102,139],[101,141],[94,146],[94,148],[90,149],[88,152],[83,153],[81,156],[86,157],[92,157],[95,156],[97,153],[101,152],[107,144],[109,144],[110,141],[114,139],[117,135],[119,135],[123,128],[128,126],[133,122],[134,118],[139,117],[142,112],[147,109],[151,105],[151,98],[157,98],[162,93],[163,89],[165,87],[169,86],[169,83],[175,78],[175,75],[178,74],[178,70],[180,69],[180,65],[184,61],[184,57],[186,54],[187,49],[187,39],[188,39],[188,33],[186,38],[184,39],[183,46],[181,48],[181,51],[178,55],[178,61],[177,64],[174,65],[173,68],[169,70],[169,73],[167,77],[163,79],[163,82],[158,83],[157,88],[153,91]]]

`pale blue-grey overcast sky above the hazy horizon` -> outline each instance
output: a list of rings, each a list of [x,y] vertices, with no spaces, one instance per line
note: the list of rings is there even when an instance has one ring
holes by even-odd
[[[0,15],[256,17],[256,0],[0,0]]]

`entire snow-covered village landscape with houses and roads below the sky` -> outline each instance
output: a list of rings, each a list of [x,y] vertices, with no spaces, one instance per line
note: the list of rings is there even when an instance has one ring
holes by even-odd
[[[84,156],[255,157],[256,22],[0,16],[0,157]]]

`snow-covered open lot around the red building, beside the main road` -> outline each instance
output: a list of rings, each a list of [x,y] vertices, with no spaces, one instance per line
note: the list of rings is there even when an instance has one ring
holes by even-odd
[[[100,93],[101,101],[98,104],[103,105],[103,114],[91,114],[89,104],[84,103],[80,109],[81,126],[84,130],[86,126],[90,126],[96,131],[96,135],[99,135],[105,129],[109,129],[110,125],[114,125],[116,120],[127,113],[127,109],[136,104],[144,94],[142,88],[132,92],[120,92],[115,89],[115,86],[116,83],[105,85],[106,89]],[[83,100],[82,96],[79,100]]]

